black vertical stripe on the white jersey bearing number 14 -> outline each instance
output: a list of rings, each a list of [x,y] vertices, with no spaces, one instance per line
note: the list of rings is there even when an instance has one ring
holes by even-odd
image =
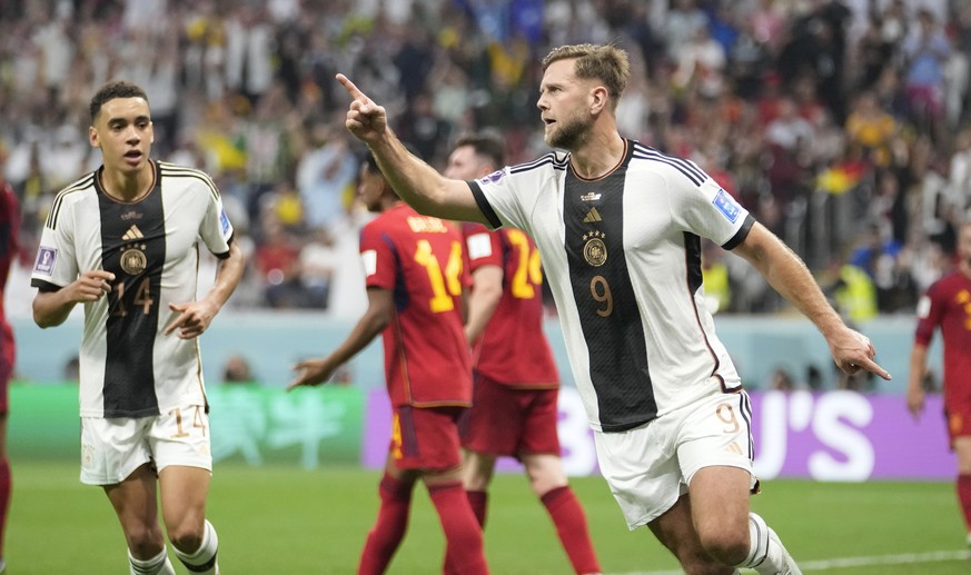
[[[158,397],[155,393],[153,354],[158,335],[159,290],[166,260],[165,207],[162,206],[161,178],[156,189],[138,204],[119,204],[103,191],[98,195],[101,210],[101,261],[106,270],[115,274],[108,305],[107,354],[105,358],[105,417],[143,417],[158,415]],[[122,239],[132,226],[142,237]],[[138,246],[145,252],[147,266],[143,271],[129,275],[121,269],[121,252]],[[148,294],[140,293],[148,278]],[[118,298],[117,285],[123,282],[125,291]],[[152,299],[146,313],[143,301]]]

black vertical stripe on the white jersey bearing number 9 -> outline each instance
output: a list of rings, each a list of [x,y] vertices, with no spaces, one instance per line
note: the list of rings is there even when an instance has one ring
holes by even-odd
[[[595,181],[581,180],[568,171],[564,194],[569,281],[589,350],[589,377],[604,432],[632,429],[657,416],[647,370],[644,318],[624,257],[624,181],[630,159],[628,149],[623,166]],[[594,207],[600,221],[584,222]],[[601,240],[606,245],[607,258],[600,267],[584,257],[584,246],[592,232],[602,234]],[[606,305],[594,298],[596,276],[602,276],[611,289],[613,311],[607,317],[597,314]]]

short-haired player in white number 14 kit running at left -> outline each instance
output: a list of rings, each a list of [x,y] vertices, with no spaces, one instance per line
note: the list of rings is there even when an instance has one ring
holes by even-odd
[[[176,557],[219,573],[206,521],[212,470],[201,335],[239,282],[242,250],[204,172],[149,158],[145,91],[109,82],[91,99],[88,139],[102,165],[58,194],[31,285],[33,319],[58,326],[85,305],[80,349],[81,483],[103,487],[130,572],[174,574]],[[199,242],[220,261],[196,298]],[[79,571],[83,571],[79,567]]]

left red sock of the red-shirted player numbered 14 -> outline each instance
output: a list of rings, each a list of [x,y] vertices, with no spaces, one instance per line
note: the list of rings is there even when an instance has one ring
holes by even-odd
[[[387,569],[408,528],[413,486],[413,483],[399,482],[388,474],[382,477],[378,487],[382,505],[360,554],[359,575],[377,575]]]

